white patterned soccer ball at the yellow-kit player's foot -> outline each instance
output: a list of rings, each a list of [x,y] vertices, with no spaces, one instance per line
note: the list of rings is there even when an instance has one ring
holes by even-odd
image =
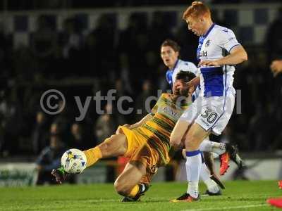
[[[70,174],[80,174],[86,168],[87,158],[85,153],[77,148],[71,148],[61,157],[63,169]]]

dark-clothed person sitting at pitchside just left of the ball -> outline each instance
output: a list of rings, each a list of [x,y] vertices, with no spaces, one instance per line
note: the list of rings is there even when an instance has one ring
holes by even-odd
[[[51,170],[58,168],[61,165],[61,156],[66,151],[61,136],[59,134],[51,134],[50,145],[42,150],[37,158],[38,177],[36,184],[43,185],[45,183],[56,184],[50,175]]]

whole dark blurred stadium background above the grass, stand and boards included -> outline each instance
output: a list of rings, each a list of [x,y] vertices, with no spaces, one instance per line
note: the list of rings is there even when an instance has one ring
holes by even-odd
[[[75,122],[74,96],[85,99],[116,89],[117,98],[135,99],[125,108],[142,109],[147,96],[169,89],[159,56],[164,39],[178,41],[181,58],[197,64],[197,37],[181,20],[189,2],[0,1],[1,184],[32,184],[36,174],[32,163],[52,134],[59,134],[70,148],[85,149],[111,135],[118,124],[145,115],[119,115],[116,105],[111,108],[106,102],[102,107],[113,110],[113,115],[97,115],[92,101],[85,119]],[[249,56],[235,72],[242,114],[234,113],[223,136],[214,139],[238,144],[250,161],[250,171],[246,175],[234,169],[226,179],[281,178],[281,75],[274,77],[269,70],[271,60],[282,58],[281,3],[206,2],[214,22],[231,27]],[[66,96],[66,108],[59,115],[40,109],[40,96],[48,89]],[[85,172],[80,181],[93,181],[93,174],[95,181],[112,181],[114,165],[108,160],[94,172]],[[160,180],[174,178],[169,167],[162,171]],[[20,178],[26,180],[18,182]]]

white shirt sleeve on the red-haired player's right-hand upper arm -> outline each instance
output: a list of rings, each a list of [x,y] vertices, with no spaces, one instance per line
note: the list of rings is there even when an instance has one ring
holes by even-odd
[[[237,41],[235,34],[232,30],[223,29],[216,34],[217,41],[221,48],[226,49],[226,51],[230,52],[235,46],[240,45]]]

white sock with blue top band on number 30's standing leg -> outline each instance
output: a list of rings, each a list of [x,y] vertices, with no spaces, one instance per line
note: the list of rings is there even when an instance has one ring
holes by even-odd
[[[200,151],[186,151],[186,174],[188,181],[188,191],[190,196],[197,198],[199,196],[199,178],[202,167],[202,158]]]

